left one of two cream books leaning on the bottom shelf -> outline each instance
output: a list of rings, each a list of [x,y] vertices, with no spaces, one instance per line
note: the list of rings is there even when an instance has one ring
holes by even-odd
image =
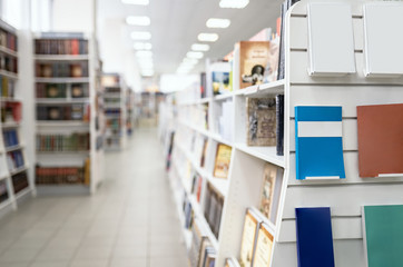
[[[258,225],[258,217],[253,210],[247,209],[240,243],[239,264],[242,267],[252,267]]]

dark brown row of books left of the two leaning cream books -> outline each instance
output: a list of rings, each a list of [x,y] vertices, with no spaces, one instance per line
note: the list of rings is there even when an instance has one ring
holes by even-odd
[[[220,196],[209,184],[207,184],[205,192],[204,215],[213,234],[219,235],[219,226],[222,222],[224,207],[224,197]]]

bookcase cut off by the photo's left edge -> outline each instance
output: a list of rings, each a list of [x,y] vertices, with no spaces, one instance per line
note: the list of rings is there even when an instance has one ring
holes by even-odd
[[[35,195],[21,127],[23,92],[19,85],[19,33],[0,20],[0,212]]]

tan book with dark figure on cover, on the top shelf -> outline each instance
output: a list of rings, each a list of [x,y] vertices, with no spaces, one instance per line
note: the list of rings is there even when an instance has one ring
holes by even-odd
[[[240,41],[239,59],[239,89],[262,83],[269,61],[269,42]]]

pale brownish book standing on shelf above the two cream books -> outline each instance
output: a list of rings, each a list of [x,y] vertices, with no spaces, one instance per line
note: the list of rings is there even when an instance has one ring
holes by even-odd
[[[261,194],[261,212],[271,218],[274,188],[276,186],[277,167],[271,164],[266,164],[263,172],[263,185]]]

